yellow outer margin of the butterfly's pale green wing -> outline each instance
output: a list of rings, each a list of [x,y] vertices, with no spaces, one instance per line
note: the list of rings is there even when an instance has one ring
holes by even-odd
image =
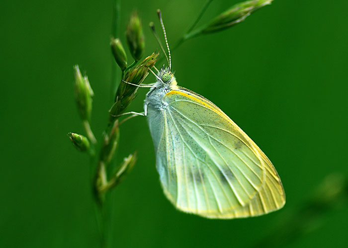
[[[184,212],[198,214],[207,218],[231,219],[258,216],[283,207],[285,204],[285,193],[280,178],[272,163],[254,143],[254,141],[216,105],[188,89],[179,87],[178,89],[168,92],[163,98],[163,101],[169,106],[174,106],[175,102],[182,100],[204,107],[222,117],[223,120],[226,120],[230,127],[228,131],[230,131],[234,136],[238,137],[241,142],[246,144],[254,152],[254,155],[260,160],[263,173],[262,183],[257,188],[256,193],[250,197],[249,201],[242,201],[242,204],[234,205],[233,207],[222,210],[201,210],[198,208],[195,209],[183,207],[179,205],[178,201],[175,201],[172,198],[171,193],[164,188],[167,197],[172,201],[176,208]],[[185,112],[185,109],[179,105],[175,105],[175,108],[179,112]],[[209,196],[205,196],[206,200],[208,200],[208,197]]]

